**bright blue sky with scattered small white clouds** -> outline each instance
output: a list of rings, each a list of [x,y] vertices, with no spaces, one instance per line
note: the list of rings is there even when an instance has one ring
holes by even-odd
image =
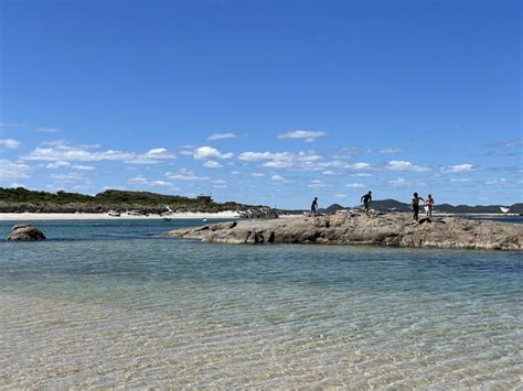
[[[0,187],[523,202],[522,7],[0,0]]]

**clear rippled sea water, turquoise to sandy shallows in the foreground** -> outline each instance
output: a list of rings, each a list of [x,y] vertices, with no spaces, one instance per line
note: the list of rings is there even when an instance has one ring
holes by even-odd
[[[143,236],[200,224],[0,242],[0,387],[522,387],[521,253]]]

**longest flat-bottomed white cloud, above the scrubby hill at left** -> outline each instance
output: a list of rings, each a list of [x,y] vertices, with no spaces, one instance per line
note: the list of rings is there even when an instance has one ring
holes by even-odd
[[[175,159],[177,155],[164,148],[157,148],[146,153],[108,150],[104,152],[89,151],[90,148],[74,146],[66,141],[58,140],[42,143],[23,160],[34,161],[64,161],[64,162],[94,162],[121,161],[130,164],[153,164],[159,160]]]

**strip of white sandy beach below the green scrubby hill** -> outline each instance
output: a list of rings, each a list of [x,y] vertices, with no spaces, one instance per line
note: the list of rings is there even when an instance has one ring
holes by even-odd
[[[0,213],[0,221],[33,221],[33,220],[117,220],[117,219],[213,219],[213,218],[238,218],[239,214],[234,210],[218,213],[177,213],[168,216],[149,215],[135,216],[121,214],[119,217],[108,214],[33,214],[33,213]]]

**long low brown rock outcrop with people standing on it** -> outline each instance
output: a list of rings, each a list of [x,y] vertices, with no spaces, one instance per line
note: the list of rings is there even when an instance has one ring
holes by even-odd
[[[523,225],[373,213],[248,220],[177,229],[163,236],[215,243],[319,243],[521,250]]]

